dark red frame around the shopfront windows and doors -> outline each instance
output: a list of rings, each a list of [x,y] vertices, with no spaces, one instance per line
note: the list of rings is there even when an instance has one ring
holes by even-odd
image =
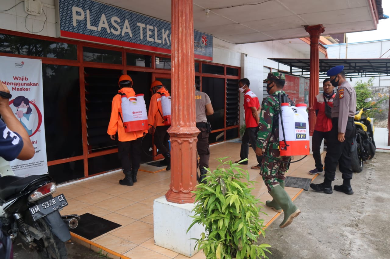
[[[77,46],[77,60],[71,60],[71,59],[59,59],[59,58],[46,58],[46,57],[38,57],[38,56],[25,56],[25,55],[18,55],[18,54],[9,54],[9,53],[0,53],[0,56],[9,56],[9,57],[28,57],[32,59],[41,59],[43,64],[49,64],[49,65],[65,65],[65,66],[78,66],[79,67],[79,82],[80,82],[80,110],[81,110],[81,124],[82,124],[82,141],[83,141],[83,155],[81,156],[75,156],[71,158],[64,158],[64,159],[58,159],[53,161],[48,161],[48,166],[52,165],[58,165],[62,163],[68,163],[71,161],[77,161],[77,160],[83,160],[84,162],[84,177],[90,177],[91,175],[88,174],[88,158],[94,158],[97,156],[103,156],[106,154],[112,154],[118,152],[118,149],[107,149],[104,151],[97,151],[93,153],[89,153],[88,151],[88,145],[87,145],[87,119],[86,119],[86,108],[85,108],[85,83],[84,83],[84,68],[90,67],[90,68],[109,68],[110,69],[117,69],[122,70],[124,72],[130,70],[130,71],[139,71],[139,72],[150,72],[152,73],[152,80],[156,76],[158,77],[171,77],[171,70],[170,69],[161,69],[156,68],[156,56],[163,57],[163,58],[171,58],[171,56],[161,53],[151,53],[147,51],[142,50],[136,50],[136,49],[128,49],[124,47],[115,47],[115,46],[108,46],[104,44],[97,44],[92,42],[84,42],[84,41],[78,41],[78,40],[70,40],[70,39],[64,39],[64,38],[52,38],[47,36],[41,36],[41,35],[32,35],[29,33],[22,33],[22,32],[15,32],[10,30],[4,30],[0,29],[0,33],[8,34],[8,35],[14,35],[14,36],[20,36],[20,37],[26,37],[26,38],[33,38],[33,39],[40,39],[40,40],[48,40],[52,42],[63,42],[67,44],[74,44]],[[83,61],[83,47],[93,47],[97,49],[108,49],[113,51],[121,51],[122,52],[122,64],[107,64],[107,63],[94,63],[89,61]],[[152,57],[152,63],[151,68],[147,67],[140,67],[140,66],[129,66],[126,64],[126,53],[135,53],[135,54],[145,54]],[[202,78],[202,76],[205,77],[216,77],[216,78],[224,78],[225,79],[225,103],[226,103],[226,79],[239,79],[239,76],[231,76],[226,75],[226,67],[232,67],[232,68],[238,68],[238,74],[240,75],[241,68],[235,67],[235,66],[228,66],[228,65],[222,65],[222,64],[216,64],[212,62],[207,62],[203,60],[195,59],[196,63],[199,63],[199,72],[195,72],[195,75],[198,75]],[[202,64],[209,64],[209,65],[219,65],[224,67],[224,75],[215,75],[215,74],[202,74]],[[224,111],[224,115],[226,118],[226,108]],[[236,126],[229,126],[226,127],[226,120],[224,121],[224,128],[223,129],[217,129],[212,132],[219,132],[224,131],[224,140],[226,140],[226,130],[237,128],[239,131],[239,125]],[[160,157],[157,156],[156,159],[159,159]],[[161,156],[162,158],[162,156]],[[101,172],[105,173],[105,172]],[[101,173],[97,173],[94,175],[99,175]]]

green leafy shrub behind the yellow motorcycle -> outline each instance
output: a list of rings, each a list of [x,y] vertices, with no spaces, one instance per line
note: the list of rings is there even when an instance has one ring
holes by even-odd
[[[388,108],[382,108],[382,103],[389,100],[388,94],[374,93],[372,87],[374,86],[374,77],[371,77],[367,82],[358,80],[355,83],[356,91],[356,109],[372,107],[372,110],[367,111],[365,115],[369,117],[383,117],[384,111]],[[372,101],[364,102],[366,98],[372,98]]]

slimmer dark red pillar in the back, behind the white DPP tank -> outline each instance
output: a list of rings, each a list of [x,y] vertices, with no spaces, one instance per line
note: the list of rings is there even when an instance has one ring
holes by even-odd
[[[314,110],[314,100],[319,92],[319,35],[325,31],[322,25],[305,26],[305,30],[310,35],[310,86],[309,86],[309,129],[310,136],[313,135],[316,125],[316,111]]]

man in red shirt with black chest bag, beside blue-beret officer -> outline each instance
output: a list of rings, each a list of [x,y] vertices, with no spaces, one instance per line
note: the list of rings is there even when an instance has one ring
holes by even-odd
[[[311,175],[323,172],[323,165],[319,150],[321,148],[322,140],[326,138],[332,129],[332,115],[327,115],[325,110],[326,106],[333,107],[333,99],[336,94],[329,78],[324,80],[323,88],[324,93],[318,94],[316,99],[314,99],[314,109],[316,110],[317,121],[316,126],[314,126],[312,137],[312,151],[314,161],[316,161],[316,168],[309,171]],[[330,108],[328,109],[330,110]]]

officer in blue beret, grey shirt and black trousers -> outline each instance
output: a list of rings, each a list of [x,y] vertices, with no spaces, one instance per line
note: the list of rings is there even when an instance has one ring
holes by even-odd
[[[334,87],[339,86],[332,108],[332,130],[326,139],[325,179],[322,184],[310,184],[319,192],[332,194],[332,181],[335,177],[337,163],[342,173],[343,184],[335,185],[335,191],[353,194],[351,188],[351,145],[355,133],[354,116],[356,112],[356,92],[347,82],[344,66],[335,66],[326,72]]]

